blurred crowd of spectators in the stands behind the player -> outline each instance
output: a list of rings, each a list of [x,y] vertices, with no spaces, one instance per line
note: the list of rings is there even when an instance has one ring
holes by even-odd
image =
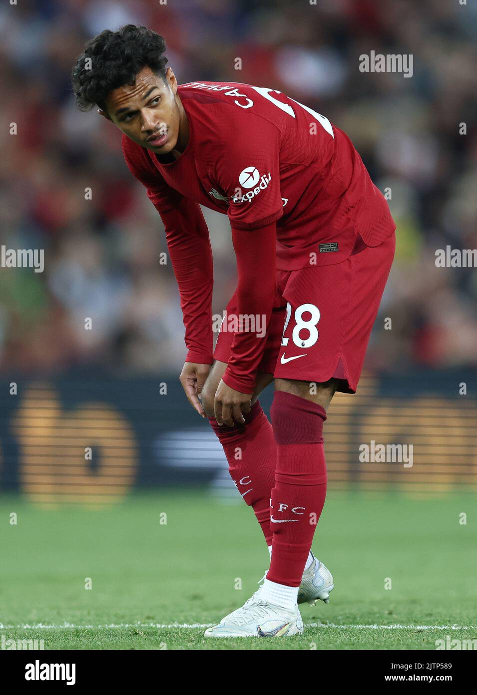
[[[126,168],[119,131],[77,111],[70,82],[85,42],[130,22],[165,37],[179,83],[266,86],[323,113],[351,137],[378,188],[391,190],[398,246],[369,370],[477,365],[476,270],[435,266],[437,249],[477,247],[474,3],[22,0],[0,8],[0,237],[8,248],[43,248],[45,270],[0,268],[3,373],[181,370],[162,222]],[[371,50],[412,54],[413,76],[360,72]],[[226,216],[204,214],[221,314],[235,256]]]

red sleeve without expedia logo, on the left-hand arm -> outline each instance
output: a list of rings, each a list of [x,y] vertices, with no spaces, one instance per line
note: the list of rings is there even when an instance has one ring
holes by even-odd
[[[131,144],[129,144],[131,143]],[[181,297],[186,362],[212,364],[212,249],[199,204],[165,183],[144,152],[123,137],[122,152],[131,174],[147,189],[147,197],[165,227],[167,250]]]

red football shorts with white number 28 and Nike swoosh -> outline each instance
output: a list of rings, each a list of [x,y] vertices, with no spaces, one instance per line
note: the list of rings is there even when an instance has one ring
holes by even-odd
[[[369,336],[394,259],[393,233],[342,263],[277,270],[274,308],[259,372],[276,379],[327,382],[355,393]],[[237,312],[235,292],[226,306]],[[214,359],[227,362],[233,331],[219,332]]]

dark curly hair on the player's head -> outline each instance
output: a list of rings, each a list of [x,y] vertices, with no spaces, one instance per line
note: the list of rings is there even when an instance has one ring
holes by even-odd
[[[107,111],[108,94],[122,85],[134,84],[135,76],[146,65],[165,79],[165,49],[162,36],[145,26],[126,24],[117,31],[101,31],[85,44],[72,70],[76,106],[91,111],[97,104]]]

